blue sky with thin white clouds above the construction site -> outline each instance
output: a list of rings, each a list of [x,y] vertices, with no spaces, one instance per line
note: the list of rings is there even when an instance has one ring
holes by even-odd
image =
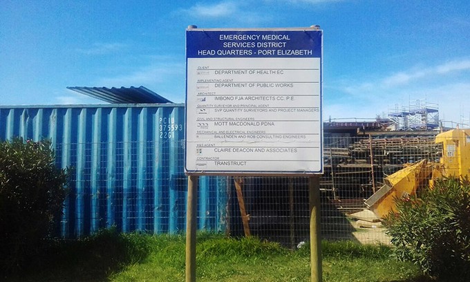
[[[185,101],[185,29],[323,30],[323,119],[416,100],[470,120],[470,1],[1,1],[0,104],[97,104],[66,86]],[[463,120],[462,120],[463,118]]]

